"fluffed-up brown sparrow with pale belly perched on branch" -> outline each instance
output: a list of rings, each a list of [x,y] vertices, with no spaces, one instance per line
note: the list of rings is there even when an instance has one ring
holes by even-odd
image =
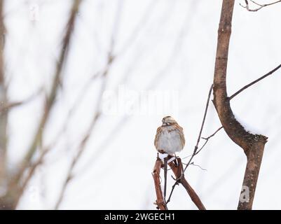
[[[158,127],[154,146],[159,153],[174,155],[184,148],[184,130],[171,116],[162,119],[162,125]]]

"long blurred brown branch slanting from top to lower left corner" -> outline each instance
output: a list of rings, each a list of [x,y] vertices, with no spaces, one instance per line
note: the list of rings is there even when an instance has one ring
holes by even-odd
[[[1,3],[2,2],[3,1],[1,1]],[[23,193],[25,186],[27,185],[28,181],[31,178],[31,174],[34,173],[34,170],[32,171],[32,169],[36,169],[36,167],[37,167],[37,166],[34,166],[31,169],[31,172],[29,172],[29,177],[27,177],[27,179],[25,179],[24,186],[21,186],[22,183],[20,182],[20,180],[22,179],[22,176],[24,176],[25,172],[29,168],[29,165],[31,164],[31,160],[34,156],[34,153],[36,153],[36,149],[39,146],[39,143],[42,141],[43,131],[45,129],[45,126],[46,126],[46,123],[50,116],[53,105],[55,104],[55,98],[57,97],[57,92],[58,92],[58,89],[60,86],[60,81],[62,79],[62,67],[67,58],[67,53],[69,50],[69,43],[71,40],[71,34],[74,30],[74,23],[75,23],[75,19],[76,19],[76,15],[77,15],[80,3],[81,3],[81,0],[74,0],[73,6],[71,8],[71,13],[69,14],[69,20],[67,22],[66,33],[62,40],[62,48],[60,51],[60,57],[57,61],[57,66],[55,69],[55,75],[53,77],[53,83],[51,86],[50,93],[46,97],[46,103],[44,106],[44,111],[43,111],[43,114],[41,117],[41,121],[39,123],[39,127],[36,130],[34,139],[32,140],[32,144],[29,147],[27,154],[23,158],[22,162],[20,162],[20,167],[18,169],[18,172],[16,172],[16,174],[14,174],[14,176],[12,176],[10,178],[10,181],[8,183],[8,191],[7,191],[6,195],[4,195],[4,197],[0,199],[1,203],[6,204],[6,209],[15,209],[15,207],[18,204],[18,201],[20,200],[20,197]],[[42,155],[45,155],[45,153],[43,153]]]

